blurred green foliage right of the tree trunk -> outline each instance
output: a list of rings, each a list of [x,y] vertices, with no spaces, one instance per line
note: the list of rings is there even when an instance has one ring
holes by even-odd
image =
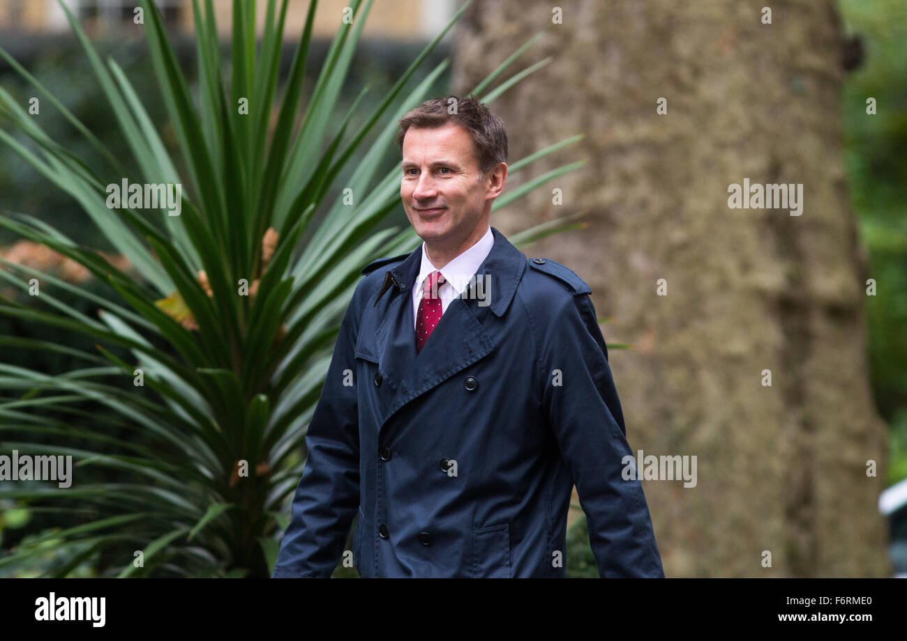
[[[842,0],[840,10],[863,43],[863,63],[844,81],[844,163],[877,287],[866,297],[870,367],[896,483],[907,478],[907,2]]]

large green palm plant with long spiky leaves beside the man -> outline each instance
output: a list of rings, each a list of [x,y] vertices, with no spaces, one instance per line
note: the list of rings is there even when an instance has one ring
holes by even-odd
[[[0,129],[0,141],[72,196],[133,267],[132,272],[117,269],[102,254],[74,244],[32,215],[5,212],[0,217],[6,229],[81,263],[110,290],[103,297],[24,265],[4,261],[0,268],[0,277],[19,288],[27,289],[27,281],[37,278],[99,308],[98,318],[91,318],[55,297],[54,288],[40,293],[54,311],[11,300],[0,305],[0,313],[9,317],[97,341],[97,353],[50,341],[18,343],[21,349],[65,351],[83,359],[85,367],[72,371],[47,374],[0,363],[0,390],[7,395],[0,397],[0,437],[22,438],[5,440],[3,450],[72,455],[77,467],[68,489],[40,483],[8,489],[6,483],[3,495],[20,506],[82,518],[62,531],[39,533],[0,558],[0,568],[26,562],[52,544],[64,552],[62,560],[46,569],[53,576],[66,576],[101,554],[107,561],[105,573],[120,577],[268,576],[287,523],[287,502],[302,472],[306,426],[359,269],[377,256],[411,251],[419,242],[408,226],[375,231],[399,204],[399,170],[391,168],[376,181],[375,171],[393,142],[396,120],[425,99],[447,61],[412,91],[403,88],[468,4],[345,140],[367,87],[336,133],[328,136],[327,129],[369,1],[361,11],[359,0],[350,3],[356,17],[336,33],[300,120],[315,2],[309,5],[283,91],[278,91],[287,2],[278,7],[276,0],[268,1],[258,48],[254,0],[234,2],[228,79],[212,1],[204,0],[202,11],[200,0],[193,0],[196,104],[161,14],[149,0],[141,0],[156,80],[178,140],[178,154],[171,156],[121,67],[112,59],[102,61],[61,3],[128,143],[137,176],[0,49],[107,165],[95,172],[74,158],[2,88],[0,119],[18,135]],[[492,102],[547,64],[548,59],[537,62],[486,91],[537,37],[473,93]],[[239,109],[244,100],[246,113]],[[273,129],[272,111],[277,115]],[[383,118],[385,124],[375,129]],[[347,198],[326,202],[339,173],[373,129],[374,142],[339,186],[351,190],[346,196],[353,195],[354,205]],[[510,173],[518,174],[580,138],[541,149],[513,163]],[[498,198],[494,208],[582,164],[527,181]],[[149,214],[127,202],[117,209],[106,206],[105,186],[124,177],[130,183],[183,185],[181,214],[168,215],[163,209]],[[316,224],[315,214],[322,208],[327,213]],[[512,240],[532,243],[579,225],[574,217],[533,227]],[[15,337],[0,339],[5,349],[16,344]],[[91,427],[73,426],[65,416],[83,413],[79,404],[85,401],[103,412]],[[54,444],[78,439],[96,448],[37,442],[48,438]],[[88,465],[100,466],[116,480],[79,483],[78,469]],[[133,562],[138,550],[141,564]]]

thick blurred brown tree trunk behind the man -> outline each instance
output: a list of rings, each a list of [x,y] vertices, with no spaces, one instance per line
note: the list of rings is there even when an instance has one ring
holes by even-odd
[[[491,103],[510,164],[585,139],[507,189],[588,163],[492,224],[510,234],[589,212],[585,230],[525,251],[579,273],[613,319],[606,340],[632,343],[609,356],[633,452],[697,456],[695,487],[643,482],[666,574],[891,576],[877,508],[887,435],[863,318],[872,274],[841,158],[834,2],[776,2],[771,24],[738,0],[558,5],[563,24],[549,4],[477,0],[461,20],[454,89],[472,90],[545,31],[518,68],[551,64]],[[728,186],[745,178],[802,184],[802,215],[730,208]]]

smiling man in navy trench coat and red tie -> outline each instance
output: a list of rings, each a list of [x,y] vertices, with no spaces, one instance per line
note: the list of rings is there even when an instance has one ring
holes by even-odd
[[[621,474],[632,454],[590,288],[489,225],[502,121],[452,96],[399,126],[424,242],[362,270],[273,576],[329,577],[356,516],[363,577],[563,577],[575,484],[600,576],[663,577],[642,487]]]

